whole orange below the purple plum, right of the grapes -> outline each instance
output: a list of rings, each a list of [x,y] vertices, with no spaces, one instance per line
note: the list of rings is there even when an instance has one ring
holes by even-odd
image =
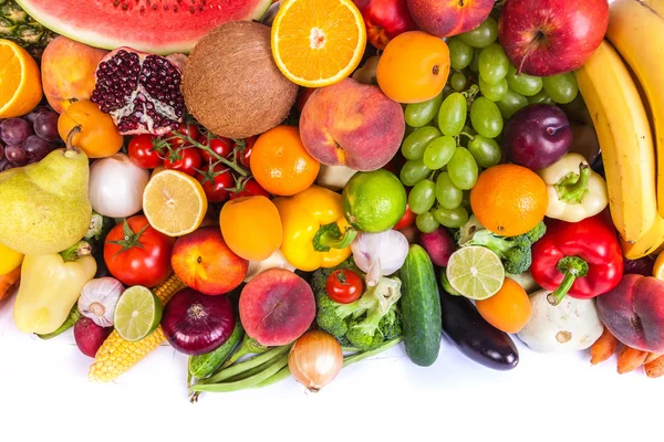
[[[517,236],[544,219],[547,185],[517,165],[489,167],[470,191],[470,208],[481,225],[502,236]]]

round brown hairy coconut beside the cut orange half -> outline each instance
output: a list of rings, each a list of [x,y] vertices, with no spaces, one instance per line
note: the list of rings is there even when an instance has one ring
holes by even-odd
[[[183,94],[191,115],[212,134],[247,138],[288,117],[298,86],[272,60],[270,28],[236,21],[196,44],[185,66]]]

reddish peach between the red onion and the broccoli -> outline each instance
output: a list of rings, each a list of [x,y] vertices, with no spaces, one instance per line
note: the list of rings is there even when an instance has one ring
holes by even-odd
[[[264,346],[287,345],[315,318],[315,298],[307,281],[284,269],[259,273],[240,294],[240,322]]]

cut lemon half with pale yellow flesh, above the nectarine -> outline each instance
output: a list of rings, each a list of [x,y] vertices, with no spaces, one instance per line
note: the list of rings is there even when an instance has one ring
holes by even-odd
[[[154,175],[143,192],[143,212],[147,221],[169,236],[181,236],[198,229],[207,207],[200,182],[177,170]]]

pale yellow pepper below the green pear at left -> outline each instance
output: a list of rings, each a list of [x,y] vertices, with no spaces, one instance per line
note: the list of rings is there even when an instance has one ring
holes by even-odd
[[[14,304],[14,323],[23,333],[55,332],[68,318],[85,283],[96,273],[90,245],[81,242],[62,254],[27,255]]]

